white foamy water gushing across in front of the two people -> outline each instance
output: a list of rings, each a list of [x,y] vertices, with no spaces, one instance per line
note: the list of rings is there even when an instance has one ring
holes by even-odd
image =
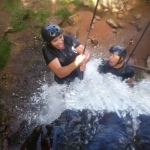
[[[100,61],[91,60],[84,79],[76,79],[69,86],[42,85],[42,91],[31,98],[31,104],[39,106],[34,119],[40,124],[51,123],[65,109],[115,111],[120,116],[130,113],[133,119],[139,114],[150,115],[150,80],[135,83],[130,88],[112,74],[99,74]]]

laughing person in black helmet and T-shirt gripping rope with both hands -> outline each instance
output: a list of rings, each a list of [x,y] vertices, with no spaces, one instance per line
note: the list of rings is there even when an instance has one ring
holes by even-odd
[[[54,72],[57,83],[70,83],[76,77],[80,78],[81,72],[90,60],[89,51],[74,37],[63,35],[62,29],[55,24],[46,24],[41,29],[41,35],[46,42],[42,49],[46,64]]]

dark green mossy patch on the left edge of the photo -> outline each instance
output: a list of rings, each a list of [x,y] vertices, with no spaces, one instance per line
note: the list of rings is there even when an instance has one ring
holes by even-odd
[[[10,54],[11,42],[8,41],[7,37],[4,37],[0,41],[0,69],[2,69],[7,63]]]

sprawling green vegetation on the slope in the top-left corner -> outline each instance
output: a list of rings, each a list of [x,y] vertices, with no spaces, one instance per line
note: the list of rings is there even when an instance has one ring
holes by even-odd
[[[50,12],[39,11],[35,13],[31,9],[22,9],[19,6],[20,0],[4,0],[5,10],[12,13],[10,25],[13,27],[12,32],[20,31],[28,27],[27,19],[35,19],[39,23],[45,23],[45,19],[50,17]],[[46,5],[44,1],[40,1],[42,7]]]

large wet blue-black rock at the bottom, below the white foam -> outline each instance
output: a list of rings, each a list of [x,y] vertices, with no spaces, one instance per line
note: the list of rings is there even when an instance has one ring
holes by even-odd
[[[38,126],[20,150],[123,150],[131,147],[131,118],[115,112],[65,110],[52,124]],[[131,131],[131,132],[129,132]],[[124,149],[125,150],[125,149]]]

